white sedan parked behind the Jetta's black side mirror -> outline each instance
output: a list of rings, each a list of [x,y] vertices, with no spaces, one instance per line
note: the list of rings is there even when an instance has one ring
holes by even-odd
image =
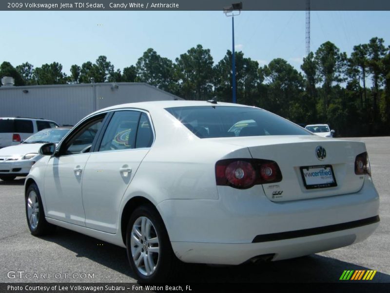
[[[42,156],[39,148],[46,143],[59,143],[70,127],[56,127],[41,130],[19,145],[0,149],[0,179],[14,180],[17,176],[26,176],[31,167]]]

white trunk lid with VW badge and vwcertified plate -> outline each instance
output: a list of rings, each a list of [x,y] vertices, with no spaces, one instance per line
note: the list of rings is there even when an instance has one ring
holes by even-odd
[[[272,201],[347,194],[357,192],[363,186],[364,176],[354,173],[356,155],[366,151],[365,144],[361,142],[321,138],[316,135],[210,140],[248,147],[253,158],[275,161],[282,172],[282,181],[263,184],[266,196]],[[318,158],[317,147],[325,149],[323,158]]]

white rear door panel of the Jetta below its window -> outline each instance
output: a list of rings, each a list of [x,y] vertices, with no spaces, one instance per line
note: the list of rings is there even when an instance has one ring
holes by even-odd
[[[121,199],[149,148],[91,153],[85,166],[82,199],[85,225],[116,233]],[[130,172],[121,171],[130,169]]]

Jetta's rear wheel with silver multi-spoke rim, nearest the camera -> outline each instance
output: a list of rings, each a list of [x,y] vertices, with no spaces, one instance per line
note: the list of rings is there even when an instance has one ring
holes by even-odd
[[[164,223],[152,205],[138,207],[130,216],[126,231],[130,266],[144,282],[172,280],[180,261],[176,258]]]

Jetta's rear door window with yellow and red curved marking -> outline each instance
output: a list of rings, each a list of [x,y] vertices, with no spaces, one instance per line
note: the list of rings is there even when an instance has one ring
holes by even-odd
[[[111,118],[99,151],[134,148],[140,112],[117,111]]]

